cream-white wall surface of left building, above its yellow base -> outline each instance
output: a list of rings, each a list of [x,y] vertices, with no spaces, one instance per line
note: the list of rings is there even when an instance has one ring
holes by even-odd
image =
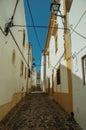
[[[0,26],[3,30],[5,23],[7,23],[9,18],[12,16],[15,4],[16,1],[14,0],[8,0],[7,2],[5,0],[0,1]],[[23,0],[18,3],[14,17],[14,24],[25,24]],[[22,53],[27,59],[26,45],[25,49],[22,46],[23,32],[19,30],[23,29],[19,27],[13,27],[11,29]],[[25,42],[27,43],[27,34]],[[15,50],[15,64],[12,64],[13,50]],[[24,79],[24,75],[23,77],[20,76],[21,60],[23,60],[23,57],[21,56],[10,33],[7,36],[4,36],[0,30],[0,105],[10,102],[13,94],[21,92],[22,87],[24,87],[24,91],[26,89],[26,79]],[[25,66],[27,67],[24,62],[24,71]]]

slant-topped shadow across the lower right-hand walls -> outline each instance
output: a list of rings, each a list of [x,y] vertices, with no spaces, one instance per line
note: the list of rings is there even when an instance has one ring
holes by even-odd
[[[73,112],[76,121],[86,129],[86,85],[83,85],[83,79],[63,65],[60,67],[60,73],[61,83],[56,85],[56,88],[54,85],[54,99],[66,112]],[[54,78],[54,82],[57,82],[57,77]]]

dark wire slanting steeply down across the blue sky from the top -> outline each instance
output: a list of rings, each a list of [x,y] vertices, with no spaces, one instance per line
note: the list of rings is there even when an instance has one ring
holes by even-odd
[[[32,12],[31,12],[31,9],[30,9],[30,4],[29,4],[29,1],[28,1],[28,0],[26,0],[26,1],[27,1],[28,9],[29,9],[29,11],[30,11],[30,16],[31,16],[31,20],[32,20],[33,27],[34,27],[34,32],[35,32],[35,35],[36,35],[36,38],[37,38],[37,41],[38,41],[39,49],[40,49],[40,51],[42,51],[42,47],[41,47],[41,44],[40,44],[40,42],[39,42],[39,38],[38,38],[38,34],[37,34],[37,31],[36,31],[36,28],[35,28],[35,24],[34,24]]]

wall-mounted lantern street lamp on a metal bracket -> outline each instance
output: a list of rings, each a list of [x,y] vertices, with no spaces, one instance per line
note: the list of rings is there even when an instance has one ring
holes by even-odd
[[[65,18],[65,15],[62,15],[61,14],[61,11],[60,11],[60,3],[59,2],[56,2],[56,1],[53,1],[51,3],[51,6],[50,6],[50,10],[51,10],[51,13],[56,15],[56,16],[59,16],[61,18]],[[60,13],[60,15],[58,15],[58,12]]]

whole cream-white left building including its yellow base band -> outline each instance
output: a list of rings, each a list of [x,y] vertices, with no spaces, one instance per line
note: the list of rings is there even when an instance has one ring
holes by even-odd
[[[0,1],[0,120],[21,100],[29,82],[27,32],[12,24],[26,24],[23,0]]]

